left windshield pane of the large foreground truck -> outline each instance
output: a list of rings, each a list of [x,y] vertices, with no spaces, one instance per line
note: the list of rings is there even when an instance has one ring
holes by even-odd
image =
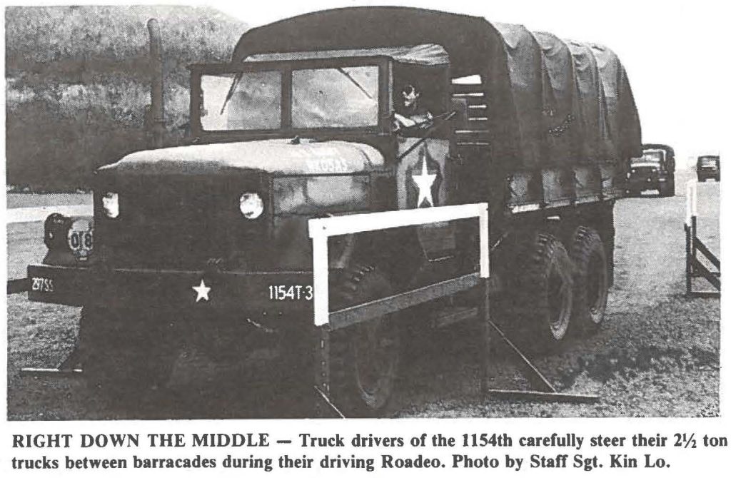
[[[203,75],[200,123],[203,129],[281,127],[281,72]]]

